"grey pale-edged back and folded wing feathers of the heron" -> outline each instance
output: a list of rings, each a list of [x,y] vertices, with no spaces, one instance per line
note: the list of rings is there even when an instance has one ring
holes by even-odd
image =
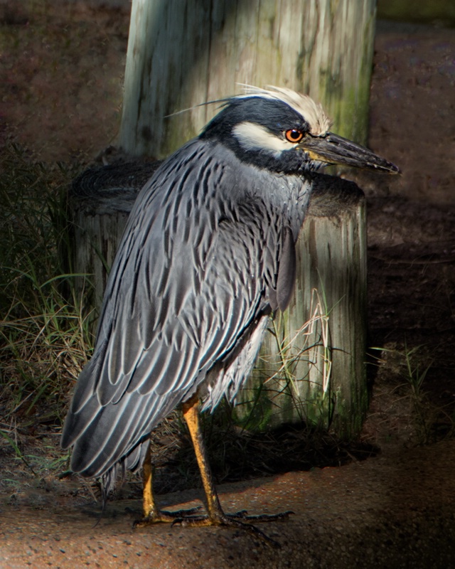
[[[269,212],[258,217],[251,204],[218,195],[223,167],[200,144],[193,146],[182,149],[173,171],[164,163],[129,217],[95,353],[80,374],[63,429],[62,446],[75,445],[75,472],[100,476],[128,456],[135,464],[135,447],[235,348],[268,307],[269,292],[277,289],[277,306],[289,302],[290,232],[264,235],[259,222]],[[171,184],[175,179],[178,186]],[[278,249],[284,258],[279,270]],[[254,361],[251,348],[244,355]],[[227,373],[235,383],[234,368]]]

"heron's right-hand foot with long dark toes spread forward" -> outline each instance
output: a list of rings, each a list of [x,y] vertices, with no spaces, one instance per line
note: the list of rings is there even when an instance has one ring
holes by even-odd
[[[181,517],[180,519],[175,519],[173,521],[174,525],[179,525],[183,527],[206,527],[206,526],[228,526],[232,528],[242,529],[251,533],[267,545],[274,548],[281,548],[280,543],[272,538],[269,538],[266,533],[261,531],[256,526],[253,526],[248,521],[277,521],[289,518],[290,514],[294,514],[292,511],[285,511],[279,514],[259,514],[257,516],[249,516],[246,510],[238,511],[235,514],[225,514],[224,512],[216,512],[213,516],[187,516]]]

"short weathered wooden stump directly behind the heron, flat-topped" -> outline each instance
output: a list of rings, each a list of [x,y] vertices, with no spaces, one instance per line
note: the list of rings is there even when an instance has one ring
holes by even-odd
[[[91,169],[70,191],[73,267],[91,275],[97,309],[129,211],[155,169],[156,163],[141,161]],[[294,297],[270,321],[235,416],[251,429],[305,420],[352,437],[368,404],[365,203],[352,182],[316,180],[296,248]]]

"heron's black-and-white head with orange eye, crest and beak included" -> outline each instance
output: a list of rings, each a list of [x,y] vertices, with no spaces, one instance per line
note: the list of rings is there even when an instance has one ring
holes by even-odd
[[[247,87],[244,95],[224,101],[200,137],[225,144],[242,162],[284,174],[327,164],[399,171],[365,147],[333,134],[330,126],[321,105],[307,95],[279,87]]]

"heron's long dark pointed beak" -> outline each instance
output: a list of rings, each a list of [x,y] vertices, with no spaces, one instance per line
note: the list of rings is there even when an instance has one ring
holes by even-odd
[[[387,172],[387,174],[400,173],[392,162],[388,162],[368,148],[339,137],[333,132],[328,132],[323,137],[307,134],[297,148],[306,151],[312,160],[326,162],[326,164],[347,164],[357,168]]]

